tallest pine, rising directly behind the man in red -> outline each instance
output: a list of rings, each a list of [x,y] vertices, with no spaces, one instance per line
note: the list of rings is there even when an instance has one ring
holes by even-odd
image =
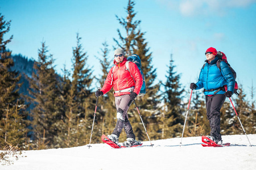
[[[156,78],[156,69],[153,68],[151,65],[152,58],[151,53],[147,54],[149,49],[147,48],[147,42],[145,42],[144,39],[144,33],[141,32],[140,29],[138,29],[138,25],[141,23],[140,20],[135,20],[134,17],[136,13],[134,12],[134,5],[135,3],[133,1],[128,2],[126,12],[127,17],[126,18],[118,18],[119,24],[122,25],[123,28],[125,28],[125,36],[122,36],[121,31],[118,29],[118,35],[119,40],[114,39],[114,41],[117,43],[119,48],[122,48],[126,52],[126,57],[129,54],[138,54],[138,56],[141,58],[142,62],[142,70],[145,76],[146,80],[146,95],[143,97],[143,99],[137,100],[137,105],[139,107],[140,113],[143,115],[144,123],[146,124],[147,131],[154,131],[153,139],[156,139],[157,135],[155,134],[157,129],[159,129],[158,124],[156,123],[156,114],[159,114],[159,112],[155,113],[156,108],[159,104],[159,95],[158,91],[160,88],[159,83],[155,83]],[[134,108],[132,108],[134,107]],[[147,135],[144,132],[144,128],[141,124],[141,119],[137,113],[137,110],[135,109],[134,105],[131,105],[129,111],[129,120],[131,122],[131,125],[133,126],[133,130],[135,135],[138,137],[139,140],[147,139]],[[125,135],[121,135],[121,140]]]

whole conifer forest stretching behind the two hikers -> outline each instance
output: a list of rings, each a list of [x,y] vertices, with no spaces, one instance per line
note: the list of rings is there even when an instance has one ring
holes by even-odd
[[[77,33],[73,44],[72,69],[63,68],[56,73],[55,59],[48,52],[47,42],[38,47],[34,61],[22,54],[12,54],[6,46],[13,36],[4,35],[10,31],[11,21],[0,14],[0,147],[18,146],[20,150],[67,148],[89,144],[96,108],[95,92],[98,82],[102,87],[108,71],[113,66],[113,46],[122,48],[126,54],[137,54],[141,58],[142,71],[146,80],[146,95],[136,99],[151,140],[181,137],[188,107],[190,89],[180,83],[180,73],[174,71],[175,61],[170,58],[166,71],[166,82],[156,78],[156,67],[152,53],[136,19],[133,1],[125,8],[126,16],[116,16],[123,30],[117,29],[119,39],[115,44],[102,42],[97,61],[101,65],[101,77],[95,76],[88,63],[86,46]],[[40,41],[40,40],[39,40]],[[127,57],[127,56],[126,56]],[[245,94],[239,84],[239,96],[233,95],[233,103],[240,115],[247,134],[256,133],[256,110],[254,87],[251,94]],[[251,99],[247,101],[247,97]],[[111,134],[116,123],[113,89],[99,97],[93,127],[92,142],[101,143],[102,134]],[[135,104],[128,111],[129,120],[139,141],[147,141],[141,118]],[[203,90],[193,91],[184,137],[209,134]],[[243,134],[240,122],[230,102],[225,101],[221,109],[221,134]],[[125,141],[122,131],[119,141]]]

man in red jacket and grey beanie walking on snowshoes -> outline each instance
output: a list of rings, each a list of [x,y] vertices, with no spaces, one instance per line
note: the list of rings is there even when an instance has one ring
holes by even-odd
[[[102,96],[109,92],[112,87],[114,88],[117,124],[115,125],[113,133],[108,135],[108,138],[118,145],[119,135],[124,128],[127,139],[123,143],[123,146],[133,146],[139,145],[141,142],[135,140],[133,128],[128,120],[127,111],[132,101],[139,94],[139,91],[141,91],[143,79],[137,65],[133,62],[129,62],[129,73],[125,66],[126,61],[127,59],[125,58],[123,50],[116,49],[114,52],[114,66],[110,69],[104,86],[95,94],[96,97]]]

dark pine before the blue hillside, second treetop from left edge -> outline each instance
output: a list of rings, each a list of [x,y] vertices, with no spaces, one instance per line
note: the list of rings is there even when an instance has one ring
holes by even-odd
[[[35,73],[30,81],[30,97],[35,108],[31,111],[32,131],[36,149],[52,148],[56,135],[56,120],[60,118],[57,101],[59,97],[57,74],[53,66],[53,57],[48,55],[45,42],[39,49],[38,61],[34,63]]]

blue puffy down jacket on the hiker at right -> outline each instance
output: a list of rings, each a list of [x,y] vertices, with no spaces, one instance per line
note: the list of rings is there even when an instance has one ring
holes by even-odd
[[[205,63],[205,66],[202,67],[199,75],[198,82],[196,83],[196,89],[199,90],[204,87],[205,95],[214,95],[214,91],[208,91],[212,89],[221,88],[224,85],[228,86],[228,91],[234,92],[234,84],[236,80],[232,74],[232,71],[229,69],[229,66],[226,62],[220,62],[220,69],[217,67],[218,57],[215,57],[213,61]],[[218,91],[216,94],[225,94],[225,91]]]

